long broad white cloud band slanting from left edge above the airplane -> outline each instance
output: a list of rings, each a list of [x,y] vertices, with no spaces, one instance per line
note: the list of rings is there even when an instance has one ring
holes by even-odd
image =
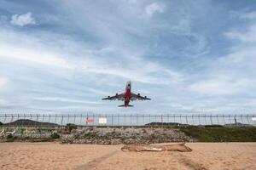
[[[114,62],[113,64],[109,63],[108,58],[102,58],[102,56],[108,55],[108,50],[96,49],[86,51],[84,50],[84,44],[81,47],[71,47],[70,44],[75,42],[68,38],[51,37],[53,40],[49,41],[48,37],[40,35],[41,39],[38,40],[37,35],[26,36],[20,32],[0,30],[1,37],[0,60],[2,59],[3,61],[18,61],[25,65],[41,65],[42,67],[50,66],[55,68],[55,70],[72,69],[80,74],[102,74],[155,84],[179,82],[183,77],[177,71],[172,71],[172,69],[145,60],[140,56],[129,58],[132,65],[114,65]],[[55,38],[58,39],[57,42],[55,42]],[[52,44],[51,42],[54,43]],[[68,44],[69,47],[58,49],[57,47],[61,47],[62,43]],[[125,57],[134,54],[130,54],[130,52],[126,54],[125,50],[122,50],[121,55]],[[122,62],[122,60],[119,62]],[[63,75],[66,74],[65,71],[62,72],[64,73]]]

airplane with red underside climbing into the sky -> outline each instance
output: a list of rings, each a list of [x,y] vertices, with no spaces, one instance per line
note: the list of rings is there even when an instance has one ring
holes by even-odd
[[[149,99],[147,96],[141,96],[141,94],[133,94],[131,93],[131,81],[128,81],[125,86],[125,93],[123,94],[115,94],[114,96],[108,96],[109,100],[122,100],[125,101],[125,105],[119,105],[119,107],[133,107],[133,105],[129,105],[130,101],[133,100],[146,100]],[[149,99],[150,100],[150,99]]]

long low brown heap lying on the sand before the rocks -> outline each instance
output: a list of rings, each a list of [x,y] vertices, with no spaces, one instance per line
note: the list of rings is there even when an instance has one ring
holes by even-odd
[[[125,145],[121,148],[123,151],[181,151],[190,152],[192,151],[185,144],[166,144],[166,145]]]

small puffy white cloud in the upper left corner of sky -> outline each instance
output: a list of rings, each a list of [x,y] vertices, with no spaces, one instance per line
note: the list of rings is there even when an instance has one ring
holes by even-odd
[[[26,26],[36,24],[36,20],[32,17],[31,13],[26,14],[14,14],[10,23],[15,26]]]

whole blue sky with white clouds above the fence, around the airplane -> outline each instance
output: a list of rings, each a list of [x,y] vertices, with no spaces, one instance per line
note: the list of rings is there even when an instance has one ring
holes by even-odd
[[[255,47],[255,0],[0,0],[0,108],[255,111]]]

